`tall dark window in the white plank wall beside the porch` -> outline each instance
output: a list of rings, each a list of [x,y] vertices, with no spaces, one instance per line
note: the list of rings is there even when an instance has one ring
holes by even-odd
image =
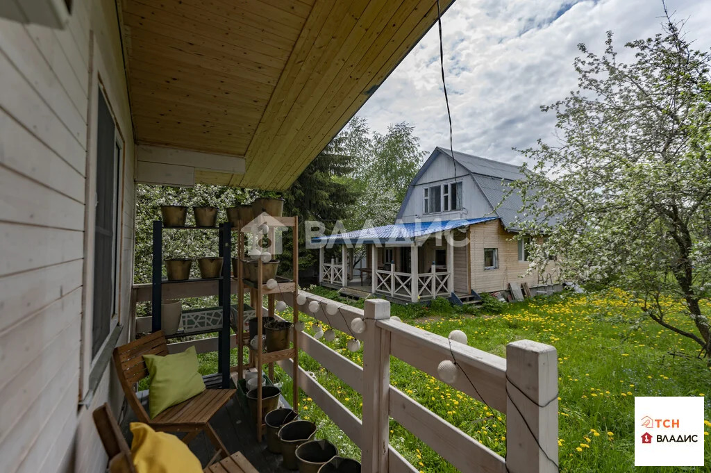
[[[109,336],[111,319],[116,309],[117,204],[121,156],[114,119],[104,95],[100,92],[98,97],[92,358]]]

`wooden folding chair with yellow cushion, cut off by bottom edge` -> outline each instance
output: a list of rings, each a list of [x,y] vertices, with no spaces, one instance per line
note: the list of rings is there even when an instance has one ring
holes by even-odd
[[[104,444],[104,450],[109,455],[109,472],[136,473],[129,445],[126,443],[126,439],[124,439],[119,429],[119,424],[116,422],[116,418],[111,413],[109,406],[107,404],[102,405],[94,411],[93,416],[96,430],[99,431],[99,437],[102,444]],[[213,464],[211,467],[205,468],[203,472],[259,473],[240,452]]]

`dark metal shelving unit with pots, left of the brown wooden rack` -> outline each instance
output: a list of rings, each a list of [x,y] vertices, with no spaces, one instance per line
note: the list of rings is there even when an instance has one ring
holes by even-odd
[[[223,258],[222,276],[209,279],[193,278],[181,281],[163,280],[163,230],[171,228],[176,230],[217,230],[219,233],[218,256]],[[153,277],[152,277],[152,324],[151,331],[161,329],[161,304],[163,301],[163,285],[176,282],[204,282],[214,281],[218,284],[218,301],[222,307],[222,326],[208,329],[202,333],[218,332],[218,373],[221,378],[222,388],[230,387],[230,295],[232,292],[230,280],[230,255],[232,253],[232,224],[220,223],[218,227],[165,227],[162,220],[153,222]],[[241,299],[240,299],[241,300]],[[240,312],[243,309],[240,304]],[[196,335],[191,332],[187,335]],[[173,338],[175,338],[173,336]]]

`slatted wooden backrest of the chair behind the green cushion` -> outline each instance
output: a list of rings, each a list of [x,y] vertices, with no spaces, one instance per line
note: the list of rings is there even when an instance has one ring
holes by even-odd
[[[168,345],[166,344],[166,337],[161,330],[129,344],[117,346],[114,349],[114,368],[116,368],[119,383],[121,383],[121,387],[124,390],[126,400],[140,422],[150,422],[148,413],[146,413],[133,388],[134,384],[148,376],[148,368],[146,368],[143,356],[165,356],[167,354]]]

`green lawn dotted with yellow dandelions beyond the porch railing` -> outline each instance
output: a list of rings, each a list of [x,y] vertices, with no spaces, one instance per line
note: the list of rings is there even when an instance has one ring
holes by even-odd
[[[320,287],[310,292],[336,299]],[[342,299],[353,305],[353,302]],[[669,302],[673,307],[673,303]],[[711,306],[705,306],[711,314]],[[699,396],[711,393],[711,369],[695,358],[695,345],[683,336],[645,319],[619,290],[565,294],[507,304],[501,314],[464,314],[438,301],[432,308],[393,305],[393,314],[407,323],[442,336],[460,329],[469,345],[499,356],[506,344],[531,339],[555,346],[559,357],[559,452],[562,472],[707,472],[708,468],[634,468],[634,397],[636,395]],[[681,317],[680,315],[677,317]],[[302,315],[310,331],[313,319]],[[681,320],[682,324],[690,322]],[[362,364],[362,351],[347,351],[346,336],[328,343],[343,356]],[[324,339],[321,339],[324,341]],[[205,358],[205,365],[211,365]],[[309,356],[302,366],[314,371],[323,386],[360,416],[361,399],[349,386]],[[205,366],[210,371],[211,366]],[[393,386],[432,412],[467,432],[500,455],[506,455],[506,416],[449,388],[436,378],[392,359]],[[283,377],[285,388],[289,378]],[[360,455],[338,427],[302,393],[301,416],[319,425],[319,437],[333,442],[342,455]],[[705,459],[711,465],[711,401],[705,401]],[[435,452],[391,420],[390,444],[422,472],[456,472]]]

